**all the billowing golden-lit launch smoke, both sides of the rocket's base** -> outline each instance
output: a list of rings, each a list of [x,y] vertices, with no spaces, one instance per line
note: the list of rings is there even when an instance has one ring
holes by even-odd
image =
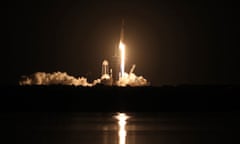
[[[68,75],[66,72],[36,72],[30,76],[23,76],[19,81],[20,85],[73,85],[91,87],[96,84],[100,84],[101,81],[110,80],[111,77],[105,74],[101,79],[96,79],[92,83],[87,81],[85,77],[75,78]],[[142,76],[137,76],[134,73],[125,73],[124,77],[121,77],[117,81],[117,86],[146,86],[147,80]]]

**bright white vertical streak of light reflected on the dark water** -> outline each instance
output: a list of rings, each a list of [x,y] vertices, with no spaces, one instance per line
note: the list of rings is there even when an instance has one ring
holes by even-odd
[[[127,136],[127,131],[126,131],[126,124],[127,124],[127,119],[129,116],[127,116],[125,113],[119,113],[115,118],[118,119],[118,138],[119,142],[118,144],[126,144],[126,136]]]

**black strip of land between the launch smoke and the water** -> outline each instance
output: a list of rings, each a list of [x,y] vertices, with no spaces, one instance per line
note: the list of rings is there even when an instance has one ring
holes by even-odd
[[[238,85],[162,87],[2,87],[2,110],[53,112],[182,112],[240,110]]]

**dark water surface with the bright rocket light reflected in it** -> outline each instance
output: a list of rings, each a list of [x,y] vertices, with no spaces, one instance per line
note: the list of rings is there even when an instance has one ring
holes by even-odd
[[[16,113],[7,124],[25,144],[212,144],[235,138],[239,119],[222,113]]]

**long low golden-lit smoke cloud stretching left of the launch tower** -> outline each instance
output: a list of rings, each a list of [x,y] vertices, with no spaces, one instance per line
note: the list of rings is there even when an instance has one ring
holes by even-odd
[[[74,85],[74,86],[94,86],[100,83],[101,80],[94,80],[92,83],[87,81],[87,78],[75,78],[68,75],[66,72],[36,72],[30,76],[23,76],[20,80],[20,85]]]

